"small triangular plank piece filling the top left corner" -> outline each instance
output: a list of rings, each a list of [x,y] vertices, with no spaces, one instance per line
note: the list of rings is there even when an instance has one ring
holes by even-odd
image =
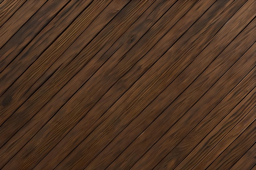
[[[0,27],[11,18],[26,0],[5,0],[0,4]]]

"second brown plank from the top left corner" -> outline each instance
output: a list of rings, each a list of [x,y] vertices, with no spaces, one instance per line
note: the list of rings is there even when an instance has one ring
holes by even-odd
[[[7,22],[0,27],[0,49],[40,9],[47,0],[27,0]]]

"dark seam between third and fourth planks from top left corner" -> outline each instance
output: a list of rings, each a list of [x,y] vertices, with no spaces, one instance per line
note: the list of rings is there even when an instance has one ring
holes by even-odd
[[[38,33],[36,33],[36,35],[34,35],[34,37],[31,38],[31,40],[20,50],[20,52],[16,55],[16,57],[17,57],[18,55],[20,55],[20,53],[34,40],[34,38],[36,38],[36,36],[39,35],[39,34],[43,31],[43,29],[45,28],[45,26],[47,26],[47,25],[60,13],[60,12],[67,6],[67,4],[70,3],[70,1],[71,1],[71,0],[69,0],[69,1],[52,17],[52,19],[48,20],[48,21],[45,23],[45,25],[38,31]],[[35,15],[35,14],[34,14],[34,15]],[[33,15],[33,16],[34,16],[34,15]],[[33,16],[32,16],[32,17],[33,17]],[[29,20],[30,20],[30,18],[29,18]],[[28,21],[29,21],[29,20],[28,20]],[[25,25],[25,24],[24,24],[24,25]],[[21,28],[22,28],[22,27],[21,27]],[[17,32],[18,32],[18,31],[17,31]],[[16,32],[16,33],[17,33],[17,32]],[[15,33],[15,34],[16,34],[16,33]],[[14,35],[15,35],[15,34],[14,34]],[[13,35],[13,36],[14,36],[14,35]],[[12,36],[12,37],[13,37],[13,36]],[[12,38],[12,37],[11,37],[11,38]],[[11,39],[11,38],[10,38],[10,39]],[[9,42],[9,40],[8,40],[7,42]],[[6,43],[7,43],[7,42],[6,42]],[[5,45],[5,44],[4,44],[4,45]],[[3,45],[3,46],[4,46],[4,45]],[[40,56],[40,55],[39,55],[39,56]],[[7,56],[7,57],[8,57],[8,56]],[[6,58],[7,58],[7,57],[6,57]],[[13,62],[13,60],[15,60],[16,57],[14,57],[14,58],[11,60],[11,62]],[[4,60],[5,60],[6,58],[4,58]],[[4,67],[4,69],[7,68],[7,67],[11,64],[11,62],[9,62],[9,64],[7,64],[7,65]],[[2,72],[4,71],[4,69],[2,69],[2,71],[0,71],[0,73],[2,73]],[[23,74],[23,73],[22,73],[22,74]],[[15,81],[16,81],[16,80],[15,80]],[[15,82],[15,81],[14,81],[14,82]],[[7,91],[7,90],[6,90],[6,91]],[[4,91],[4,93],[5,93],[6,91]],[[4,93],[3,93],[3,94],[4,94]]]

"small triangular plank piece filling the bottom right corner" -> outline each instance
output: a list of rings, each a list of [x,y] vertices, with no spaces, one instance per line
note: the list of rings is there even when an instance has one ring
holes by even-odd
[[[254,124],[254,127],[256,127],[255,124]],[[254,133],[255,133],[255,129],[254,129]],[[239,161],[236,162],[235,165],[232,166],[232,168],[230,168],[230,170],[242,170],[242,169],[249,170],[249,169],[252,169],[255,165],[256,165],[256,144],[254,143],[252,148],[250,148],[245,153],[245,155],[243,155],[243,157],[239,159]]]

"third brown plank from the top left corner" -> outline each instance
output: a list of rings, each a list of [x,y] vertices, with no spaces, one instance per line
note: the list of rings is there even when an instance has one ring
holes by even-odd
[[[13,60],[14,58],[31,42],[31,40],[34,39],[33,44],[35,45],[35,37],[38,35],[42,35],[45,33],[45,31],[40,32],[43,28],[46,30],[49,29],[49,26],[53,27],[53,24],[57,24],[56,20],[58,19],[59,22],[63,21],[61,18],[59,18],[59,15],[63,15],[63,12],[65,11],[65,5],[70,0],[63,0],[61,3],[49,0],[47,1],[43,7],[41,7],[12,37],[11,39],[4,44],[2,49],[0,49],[0,72],[2,72]],[[70,4],[67,5],[67,7],[70,7],[70,5],[74,4],[73,2],[70,2]],[[61,10],[64,7],[63,10]],[[61,11],[60,11],[61,10]],[[53,21],[52,21],[53,20]],[[47,25],[49,23],[49,25]],[[65,23],[65,22],[64,22]],[[62,24],[64,24],[62,23]],[[57,26],[57,25],[56,25]],[[49,30],[48,30],[49,31]],[[55,30],[56,31],[56,30]],[[57,32],[55,32],[56,35]],[[47,37],[45,34],[43,34],[45,37]],[[37,37],[37,38],[38,38]],[[37,39],[36,38],[36,39]],[[42,41],[42,37],[40,38]],[[38,49],[38,46],[37,46]],[[29,55],[27,53],[26,55]],[[24,59],[24,58],[22,58]],[[17,59],[14,60],[14,63],[16,64],[16,67],[18,66]],[[13,67],[12,67],[13,68]],[[17,71],[19,69],[15,69]],[[6,73],[6,71],[5,71]],[[7,75],[11,75],[8,73]],[[1,74],[2,76],[2,74]],[[6,75],[5,75],[6,76]],[[8,77],[9,77],[8,76]],[[19,75],[17,75],[19,76]],[[6,79],[8,79],[6,77]],[[2,79],[3,77],[1,77]]]

